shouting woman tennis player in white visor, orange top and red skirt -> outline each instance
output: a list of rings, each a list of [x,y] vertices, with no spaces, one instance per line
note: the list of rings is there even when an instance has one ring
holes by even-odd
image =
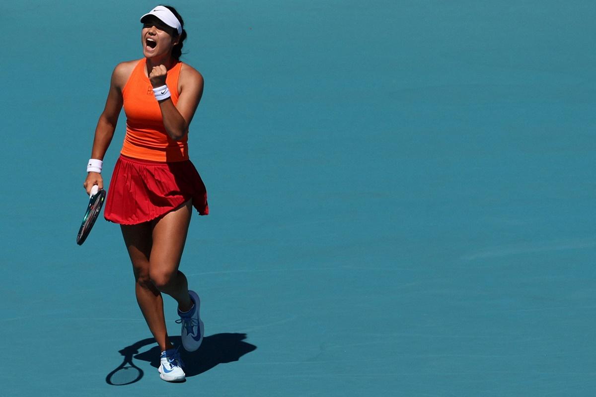
[[[87,193],[93,185],[103,188],[103,158],[124,107],[126,135],[104,216],[122,229],[136,300],[162,352],[160,377],[177,382],[185,379],[184,364],[167,335],[162,293],[178,302],[182,345],[195,351],[203,340],[200,301],[178,266],[192,207],[201,215],[209,213],[206,189],[188,160],[187,144],[203,77],[179,61],[187,33],[173,7],[159,5],[142,15],[141,23],[144,57],[114,68],[83,185]]]

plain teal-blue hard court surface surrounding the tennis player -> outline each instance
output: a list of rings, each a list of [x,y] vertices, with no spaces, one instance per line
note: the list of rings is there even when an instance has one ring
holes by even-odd
[[[596,3],[173,3],[210,204],[181,384],[119,227],[75,243],[110,74],[154,5],[0,5],[0,395],[596,395]]]

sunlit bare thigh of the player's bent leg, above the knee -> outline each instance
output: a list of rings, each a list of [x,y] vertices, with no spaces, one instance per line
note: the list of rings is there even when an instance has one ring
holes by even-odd
[[[186,242],[188,225],[193,214],[192,210],[193,206],[189,200],[153,221],[151,271],[169,273],[178,270],[184,243]]]

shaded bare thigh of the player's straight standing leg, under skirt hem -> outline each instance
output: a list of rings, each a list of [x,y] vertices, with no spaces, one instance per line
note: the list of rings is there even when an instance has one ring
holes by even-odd
[[[135,280],[149,277],[151,257],[152,229],[151,223],[145,222],[135,225],[120,225],[122,236],[131,257]]]

